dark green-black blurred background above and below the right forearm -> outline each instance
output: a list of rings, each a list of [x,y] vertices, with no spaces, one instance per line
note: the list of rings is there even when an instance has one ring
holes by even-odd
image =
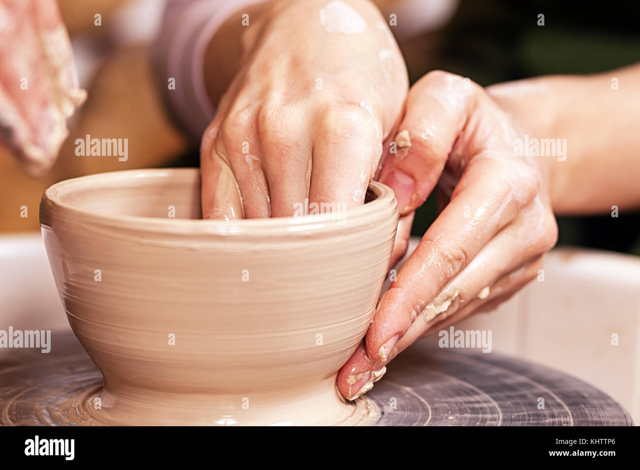
[[[540,13],[544,26],[538,26]],[[591,74],[640,61],[639,18],[637,1],[461,1],[444,31],[413,38],[403,44],[403,53],[412,82],[435,69],[484,86],[538,75]],[[436,210],[431,194],[416,213],[413,235],[427,230]],[[559,244],[640,254],[640,212],[557,221]]]

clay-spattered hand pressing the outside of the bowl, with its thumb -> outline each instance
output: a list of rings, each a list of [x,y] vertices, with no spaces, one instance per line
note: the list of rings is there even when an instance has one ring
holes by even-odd
[[[438,184],[449,201],[380,299],[360,345],[338,375],[353,398],[369,372],[426,333],[495,308],[531,281],[557,228],[536,157],[515,156],[518,125],[486,91],[431,72],[409,92],[398,153],[380,180],[411,214]]]

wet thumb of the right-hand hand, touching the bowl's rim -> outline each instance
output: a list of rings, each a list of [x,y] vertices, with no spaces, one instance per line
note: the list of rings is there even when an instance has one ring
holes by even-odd
[[[431,72],[409,91],[406,113],[380,181],[396,193],[400,214],[420,207],[433,191],[472,106],[476,88],[457,75]]]

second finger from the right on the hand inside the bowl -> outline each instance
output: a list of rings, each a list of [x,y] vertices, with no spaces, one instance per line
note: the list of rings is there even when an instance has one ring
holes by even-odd
[[[258,114],[258,129],[271,217],[305,215],[312,154],[307,120],[296,109],[266,107]]]

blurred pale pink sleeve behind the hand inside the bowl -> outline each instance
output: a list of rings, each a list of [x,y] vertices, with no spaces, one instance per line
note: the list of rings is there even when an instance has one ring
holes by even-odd
[[[216,113],[204,84],[204,56],[218,27],[243,6],[260,0],[168,0],[153,46],[164,100],[180,127],[195,139]],[[241,21],[241,17],[238,17]],[[169,80],[175,80],[175,90]]]

